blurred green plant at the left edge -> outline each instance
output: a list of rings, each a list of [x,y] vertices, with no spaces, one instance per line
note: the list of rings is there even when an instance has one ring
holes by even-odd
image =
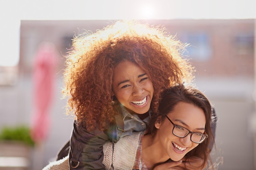
[[[30,129],[25,125],[3,126],[0,131],[0,140],[19,141],[29,146],[34,146],[30,136]]]

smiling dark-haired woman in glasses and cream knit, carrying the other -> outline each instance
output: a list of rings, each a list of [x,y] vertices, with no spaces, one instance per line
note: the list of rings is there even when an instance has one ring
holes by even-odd
[[[163,170],[196,156],[203,160],[200,170],[211,163],[211,140],[209,100],[195,88],[177,85],[163,93],[159,114],[153,115],[146,132],[122,137],[113,153],[111,143],[104,145],[103,163],[107,169]]]

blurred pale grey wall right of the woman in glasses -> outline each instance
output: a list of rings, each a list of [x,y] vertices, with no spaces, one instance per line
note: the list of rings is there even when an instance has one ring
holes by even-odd
[[[255,112],[254,81],[209,77],[196,79],[196,85],[212,102],[218,116],[213,161],[222,159],[219,170],[254,170],[254,136],[249,124]]]

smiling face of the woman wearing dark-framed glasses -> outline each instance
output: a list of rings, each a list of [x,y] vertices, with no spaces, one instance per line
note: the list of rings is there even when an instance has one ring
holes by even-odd
[[[174,110],[167,114],[170,120],[192,132],[204,133],[206,124],[204,111],[193,104],[178,102]],[[184,138],[173,135],[173,124],[165,118],[162,122],[155,123],[158,129],[155,139],[158,141],[159,148],[162,148],[164,155],[168,155],[173,161],[179,161],[186,153],[191,151],[198,144],[190,140],[191,134]]]

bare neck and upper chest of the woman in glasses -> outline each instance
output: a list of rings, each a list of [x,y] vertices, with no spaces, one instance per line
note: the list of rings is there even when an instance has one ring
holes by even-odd
[[[167,161],[169,156],[152,135],[146,134],[142,138],[142,159],[147,168],[153,170],[157,164]]]

